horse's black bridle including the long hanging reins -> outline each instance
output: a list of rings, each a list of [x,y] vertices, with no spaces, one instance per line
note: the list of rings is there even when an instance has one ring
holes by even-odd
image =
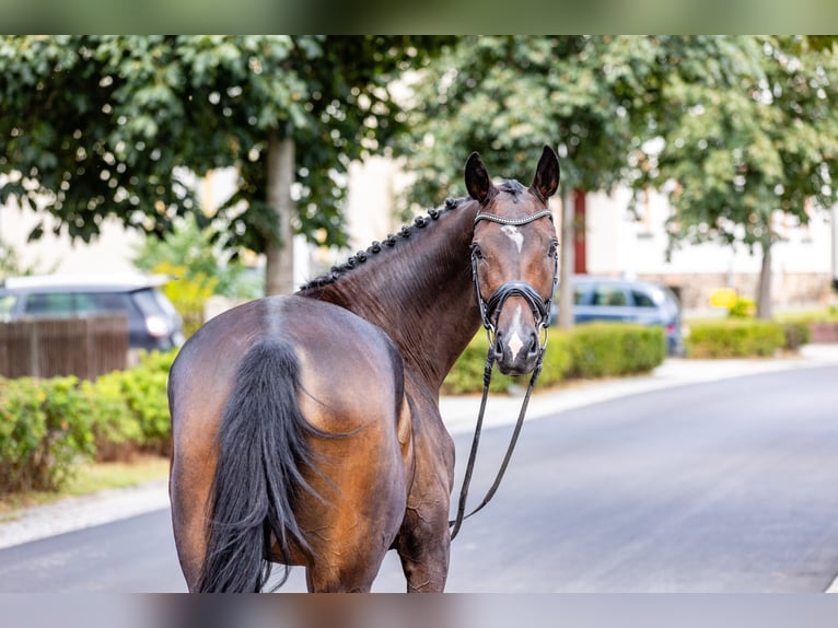
[[[517,220],[510,220],[502,218],[500,216],[494,216],[491,213],[478,213],[477,218],[475,218],[475,224],[477,224],[481,220],[489,220],[491,222],[497,222],[499,224],[504,225],[514,225],[519,226],[522,224],[526,224],[528,222],[532,222],[534,220],[537,220],[539,218],[549,218],[552,220],[552,214],[549,210],[538,211],[536,213],[533,213],[531,216],[527,216],[525,218],[521,218]],[[468,464],[466,465],[466,474],[463,478],[463,486],[459,489],[459,502],[457,504],[457,515],[456,519],[449,522],[449,526],[451,527],[451,538],[453,539],[457,533],[459,532],[459,528],[463,525],[463,521],[472,516],[473,514],[477,514],[482,508],[489,503],[489,500],[491,500],[492,497],[494,497],[494,493],[498,491],[498,487],[500,487],[500,482],[503,479],[503,474],[507,473],[507,467],[509,466],[510,460],[512,460],[512,452],[515,450],[515,444],[517,443],[517,437],[521,433],[521,427],[524,425],[524,417],[526,416],[526,408],[529,405],[529,397],[533,394],[533,388],[535,387],[535,383],[538,380],[538,375],[542,373],[542,365],[544,363],[544,351],[547,348],[547,326],[550,321],[550,304],[552,303],[552,298],[556,292],[556,283],[558,281],[558,256],[556,256],[556,267],[554,269],[554,276],[552,276],[552,292],[550,293],[550,298],[547,301],[544,301],[542,296],[538,294],[538,292],[528,283],[522,282],[522,281],[510,281],[508,283],[502,284],[498,290],[489,298],[489,302],[487,304],[486,301],[484,301],[482,295],[480,294],[480,283],[477,277],[477,259],[472,254],[472,276],[475,282],[475,290],[477,292],[477,303],[480,307],[480,317],[482,318],[484,327],[486,328],[488,335],[489,335],[489,353],[486,357],[486,367],[484,369],[484,392],[482,397],[480,399],[480,410],[477,414],[477,425],[475,426],[475,435],[472,440],[472,451],[468,455]],[[480,433],[482,432],[482,422],[484,422],[484,416],[486,415],[486,402],[489,397],[489,385],[491,384],[491,374],[492,374],[492,367],[494,365],[494,357],[493,357],[493,349],[494,349],[494,323],[491,321],[491,314],[493,312],[498,312],[498,315],[500,315],[500,309],[503,306],[503,303],[512,295],[520,295],[523,296],[529,306],[533,309],[533,314],[536,317],[536,321],[538,321],[538,329],[539,333],[544,332],[544,340],[539,347],[538,350],[538,361],[536,363],[535,369],[533,370],[533,374],[529,377],[529,385],[526,388],[526,394],[524,395],[524,403],[521,405],[521,411],[517,416],[517,421],[515,421],[515,428],[512,431],[512,438],[510,439],[509,446],[507,447],[507,454],[503,456],[503,462],[500,465],[500,468],[498,469],[498,474],[494,477],[494,481],[492,482],[491,487],[486,493],[486,497],[484,497],[482,501],[475,508],[472,512],[466,514],[466,500],[468,498],[468,487],[472,484],[472,476],[474,474],[475,469],[475,462],[477,461],[477,450],[479,449],[480,444]],[[497,321],[497,317],[496,317]]]

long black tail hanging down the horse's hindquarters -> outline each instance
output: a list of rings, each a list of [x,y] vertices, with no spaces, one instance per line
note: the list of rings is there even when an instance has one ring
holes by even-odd
[[[281,339],[259,341],[238,367],[218,434],[200,592],[261,591],[271,533],[284,562],[292,544],[309,548],[293,505],[304,491],[313,493],[301,469],[313,462],[306,433],[321,432],[298,406],[299,372],[293,348]],[[288,572],[286,566],[278,586]]]

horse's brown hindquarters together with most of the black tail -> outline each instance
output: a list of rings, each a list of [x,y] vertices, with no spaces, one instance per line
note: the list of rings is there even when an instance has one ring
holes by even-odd
[[[400,377],[398,353],[377,328],[299,296],[252,302],[194,336],[170,380],[173,523],[189,588],[207,581],[212,548],[230,544],[217,538],[208,553],[213,534],[226,534],[216,525],[226,508],[251,522],[241,545],[260,544],[277,511],[273,545],[257,554],[305,563],[314,590],[369,590],[405,512]],[[277,425],[294,416],[293,429]],[[294,530],[302,543],[283,548],[277,539],[293,540]]]

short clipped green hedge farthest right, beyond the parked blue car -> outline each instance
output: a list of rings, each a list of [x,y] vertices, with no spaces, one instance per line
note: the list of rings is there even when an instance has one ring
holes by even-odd
[[[780,323],[723,318],[690,324],[686,348],[690,358],[753,358],[773,356],[785,342]]]

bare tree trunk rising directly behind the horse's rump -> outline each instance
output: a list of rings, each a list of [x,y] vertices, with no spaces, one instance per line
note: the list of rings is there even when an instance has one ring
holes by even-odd
[[[279,242],[265,249],[265,294],[290,294],[294,286],[294,230],[296,207],[291,198],[294,183],[294,140],[279,139],[276,131],[268,140],[268,203],[276,211]]]

